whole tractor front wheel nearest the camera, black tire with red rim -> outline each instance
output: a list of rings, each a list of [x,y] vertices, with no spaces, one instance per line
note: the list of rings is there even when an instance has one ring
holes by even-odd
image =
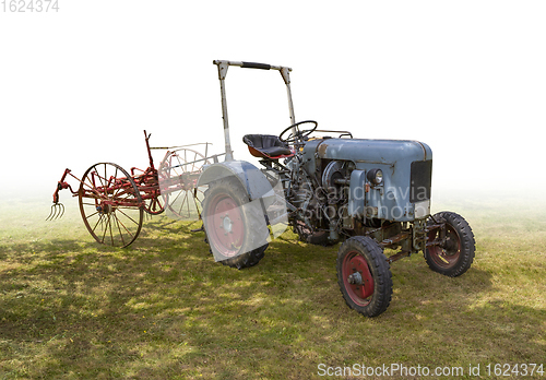
[[[378,242],[367,236],[352,237],[337,252],[337,283],[348,307],[366,317],[387,310],[392,296],[389,262]],[[360,280],[358,282],[358,277]]]

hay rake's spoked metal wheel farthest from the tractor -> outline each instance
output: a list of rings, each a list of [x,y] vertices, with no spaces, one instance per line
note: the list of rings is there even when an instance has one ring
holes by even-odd
[[[100,244],[127,247],[142,228],[139,189],[119,165],[100,163],[85,171],[79,190],[80,212],[90,234]]]

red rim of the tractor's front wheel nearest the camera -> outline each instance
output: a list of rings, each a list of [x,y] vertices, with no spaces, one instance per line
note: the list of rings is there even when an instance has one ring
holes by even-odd
[[[352,276],[359,274],[359,283],[354,283]],[[358,306],[367,306],[373,295],[373,276],[364,256],[357,251],[348,252],[343,259],[343,283],[351,299]]]

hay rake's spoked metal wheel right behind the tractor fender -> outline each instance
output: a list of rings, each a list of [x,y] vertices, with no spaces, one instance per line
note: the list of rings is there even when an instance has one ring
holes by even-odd
[[[178,218],[198,218],[204,191],[197,187],[202,167],[210,164],[193,150],[167,152],[159,165],[158,177],[166,207]]]

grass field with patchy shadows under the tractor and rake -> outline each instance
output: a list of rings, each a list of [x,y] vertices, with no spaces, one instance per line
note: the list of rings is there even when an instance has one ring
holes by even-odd
[[[214,262],[197,224],[154,217],[130,248],[111,249],[66,205],[52,223],[47,203],[0,209],[0,379],[318,379],[329,378],[320,368],[391,364],[462,367],[463,378],[477,378],[471,365],[488,378],[490,365],[492,378],[497,364],[546,367],[545,203],[436,202],[473,227],[473,266],[449,278],[422,256],[393,263],[391,306],[376,319],[345,305],[336,247],[285,233],[237,271]],[[390,375],[378,378],[401,377]]]

